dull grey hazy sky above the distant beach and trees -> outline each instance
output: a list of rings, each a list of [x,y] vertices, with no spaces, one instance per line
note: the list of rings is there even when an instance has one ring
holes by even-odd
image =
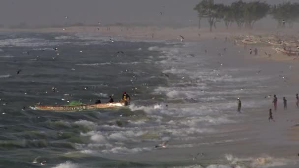
[[[193,7],[200,0],[0,0],[0,24],[197,22]],[[215,0],[230,3],[234,0]],[[246,1],[246,0],[245,0]],[[247,0],[248,1],[248,0]],[[276,3],[282,0],[266,0]],[[284,0],[286,1],[286,0]],[[299,0],[293,0],[299,1]],[[163,7],[165,6],[165,7]],[[161,16],[159,12],[163,12]],[[65,19],[64,16],[68,16]],[[192,20],[192,21],[189,21]]]

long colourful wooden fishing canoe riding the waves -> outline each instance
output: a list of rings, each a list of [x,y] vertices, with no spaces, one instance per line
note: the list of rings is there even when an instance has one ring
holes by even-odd
[[[55,111],[55,112],[78,112],[86,110],[97,110],[106,108],[115,108],[126,106],[125,102],[102,103],[92,105],[74,105],[74,106],[34,106],[30,107],[32,110]]]

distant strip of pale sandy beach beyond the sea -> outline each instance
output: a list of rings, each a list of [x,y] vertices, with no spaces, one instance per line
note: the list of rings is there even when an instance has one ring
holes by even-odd
[[[258,54],[254,55],[253,58],[261,60],[275,60],[275,61],[294,61],[298,56],[287,56],[281,52],[276,52],[271,44],[267,43],[256,43],[256,44],[244,44],[240,38],[247,40],[248,38],[254,37],[259,40],[269,37],[273,38],[275,34],[281,34],[280,36],[295,37],[299,45],[299,37],[295,30],[285,29],[289,34],[285,34],[284,31],[269,32],[269,30],[243,30],[239,28],[218,28],[214,32],[209,32],[209,28],[198,29],[196,27],[186,27],[186,28],[158,28],[158,27],[125,27],[125,26],[112,26],[112,27],[95,27],[95,26],[81,26],[81,27],[66,27],[66,28],[32,28],[32,29],[9,29],[0,28],[0,31],[6,32],[58,32],[58,33],[99,33],[103,36],[122,37],[122,38],[133,38],[133,39],[143,39],[143,40],[178,40],[180,42],[197,42],[206,39],[223,39],[239,47],[244,47],[245,50],[258,49]],[[290,36],[293,34],[293,36]],[[182,37],[184,39],[182,39]],[[297,37],[296,37],[297,36]],[[264,39],[265,40],[265,39]],[[289,40],[290,41],[290,40]],[[282,47],[281,47],[282,48]],[[295,48],[296,50],[296,48]],[[298,49],[299,52],[299,49]],[[267,53],[267,55],[266,55]],[[299,58],[298,58],[299,59]]]

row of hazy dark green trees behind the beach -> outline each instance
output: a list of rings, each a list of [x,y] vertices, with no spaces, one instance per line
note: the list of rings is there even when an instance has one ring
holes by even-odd
[[[233,23],[236,23],[239,28],[253,28],[257,21],[269,14],[278,22],[280,27],[285,22],[289,23],[290,27],[293,26],[293,23],[299,22],[299,3],[297,2],[284,2],[270,6],[259,0],[250,2],[238,0],[230,5],[214,3],[214,0],[201,0],[194,7],[194,10],[198,13],[199,21],[201,18],[207,19],[210,31],[213,27],[216,28],[216,23],[221,20],[226,28],[232,26]]]

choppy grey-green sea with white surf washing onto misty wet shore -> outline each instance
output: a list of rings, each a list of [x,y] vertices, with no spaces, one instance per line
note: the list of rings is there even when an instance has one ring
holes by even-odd
[[[0,167],[297,168],[299,143],[288,134],[299,116],[292,67],[252,59],[224,39],[112,42],[97,33],[2,32]],[[118,101],[123,91],[132,98],[126,108],[29,109],[109,95]],[[273,94],[280,106],[269,122],[271,98],[264,97]],[[166,148],[154,147],[163,141]]]

